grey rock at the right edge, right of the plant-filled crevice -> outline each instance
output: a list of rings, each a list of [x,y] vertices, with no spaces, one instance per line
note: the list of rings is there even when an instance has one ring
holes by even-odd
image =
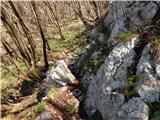
[[[136,90],[140,97],[146,102],[154,102],[160,100],[160,79],[157,72],[154,71],[151,58],[151,47],[146,46],[143,50],[139,64],[137,66],[137,76],[139,81]],[[156,63],[159,66],[160,63]]]

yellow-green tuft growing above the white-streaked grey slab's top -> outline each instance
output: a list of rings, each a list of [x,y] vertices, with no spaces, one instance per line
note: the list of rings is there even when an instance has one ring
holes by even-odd
[[[131,37],[133,37],[135,35],[137,35],[137,34],[133,31],[119,32],[118,33],[118,38],[120,40],[128,41],[128,40],[130,40]]]

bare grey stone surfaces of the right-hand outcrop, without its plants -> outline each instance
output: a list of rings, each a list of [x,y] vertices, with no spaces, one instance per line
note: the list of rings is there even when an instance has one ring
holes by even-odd
[[[103,33],[104,40],[114,47],[89,85],[85,100],[89,115],[98,110],[104,120],[149,119],[151,108],[148,104],[160,101],[160,58],[152,59],[152,48],[148,43],[137,53],[135,48],[141,41],[138,36],[120,41],[118,33],[136,31],[150,24],[158,5],[160,2],[112,2],[103,22],[106,31],[101,32],[101,27],[92,31],[91,35],[95,37]],[[130,85],[128,67],[134,64],[137,80]],[[132,90],[127,92],[136,95],[126,93],[126,88],[130,86]],[[127,95],[129,98],[126,99]]]

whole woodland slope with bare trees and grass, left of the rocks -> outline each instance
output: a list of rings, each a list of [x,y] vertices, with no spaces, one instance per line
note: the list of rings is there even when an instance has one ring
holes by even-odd
[[[1,1],[4,119],[34,119],[44,109],[44,102],[33,101],[47,71],[58,60],[70,65],[78,59],[108,5],[107,1]]]

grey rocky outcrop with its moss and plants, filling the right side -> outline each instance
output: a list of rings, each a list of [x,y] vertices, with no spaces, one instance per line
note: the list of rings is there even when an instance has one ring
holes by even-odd
[[[98,111],[104,120],[160,119],[159,6],[113,2],[103,23],[92,31],[92,40],[105,43],[110,52],[103,51],[107,57],[96,75],[83,73],[84,84],[91,78],[85,100],[89,115]],[[90,56],[86,61],[92,63],[93,53]]]

